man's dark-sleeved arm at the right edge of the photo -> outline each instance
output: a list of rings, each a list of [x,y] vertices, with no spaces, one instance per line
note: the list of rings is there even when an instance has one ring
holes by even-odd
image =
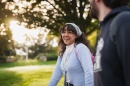
[[[122,18],[117,30],[117,51],[122,63],[125,86],[130,86],[130,14]]]

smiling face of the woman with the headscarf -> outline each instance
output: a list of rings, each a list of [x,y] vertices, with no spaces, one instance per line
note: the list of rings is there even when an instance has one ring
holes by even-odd
[[[61,36],[67,46],[75,43],[75,39],[77,38],[76,34],[67,30],[67,26],[65,27],[65,31],[61,33]]]

